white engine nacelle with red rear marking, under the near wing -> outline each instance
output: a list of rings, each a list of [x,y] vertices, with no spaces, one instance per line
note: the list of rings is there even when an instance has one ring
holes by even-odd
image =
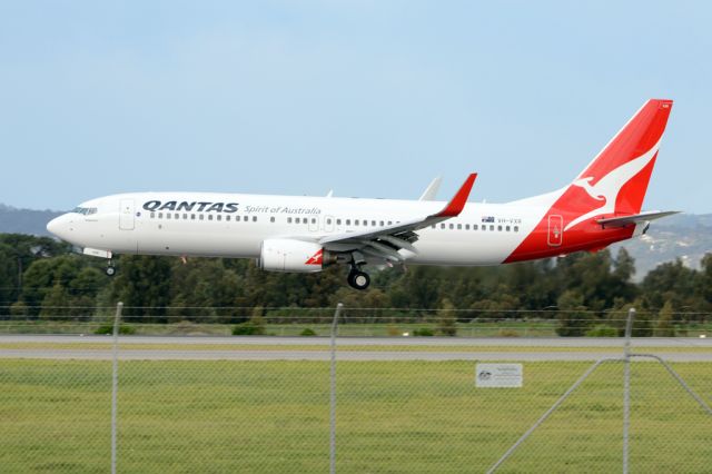
[[[263,241],[258,266],[267,271],[315,273],[322,271],[332,259],[318,244],[271,238]]]

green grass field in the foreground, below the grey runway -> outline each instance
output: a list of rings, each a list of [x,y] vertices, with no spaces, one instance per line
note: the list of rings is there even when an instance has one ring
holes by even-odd
[[[484,472],[590,366],[525,363],[524,387],[476,388],[471,362],[339,362],[339,473]],[[712,371],[676,364],[708,403]],[[328,364],[121,362],[119,472],[328,472]],[[0,362],[0,471],[107,472],[111,366]],[[631,467],[710,472],[712,417],[635,364]],[[615,472],[622,365],[595,372],[501,472]]]

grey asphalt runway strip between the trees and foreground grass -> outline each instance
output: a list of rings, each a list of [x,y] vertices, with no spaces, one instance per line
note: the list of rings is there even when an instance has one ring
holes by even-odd
[[[31,344],[97,344],[107,343],[111,338],[107,336],[44,336],[44,335],[6,335],[0,336],[0,344],[31,343]],[[296,345],[324,345],[328,338],[315,337],[120,337],[122,348],[119,358],[122,361],[328,361],[330,355],[324,350],[290,349]],[[239,349],[131,349],[126,348],[131,344],[179,344],[189,346],[200,345],[237,345]],[[246,345],[269,345],[274,349],[245,349]],[[623,340],[611,339],[581,339],[581,338],[363,338],[342,337],[337,346],[388,346],[387,350],[338,350],[337,361],[599,361],[601,358],[622,357],[615,352],[601,350],[602,348],[623,347]],[[411,346],[403,350],[403,346]],[[674,352],[664,352],[660,355],[670,362],[712,362],[712,340],[698,338],[639,338],[632,340],[632,347],[636,353],[655,353],[655,347],[675,347]],[[414,350],[417,346],[442,346],[443,350]],[[473,350],[475,347],[507,347],[502,350]],[[457,350],[457,347],[467,347],[468,350]],[[511,347],[511,349],[508,348]],[[517,350],[525,347],[542,347],[541,350]],[[546,350],[546,347],[557,350]],[[581,348],[585,348],[582,350]],[[684,348],[710,348],[710,350],[685,352]],[[390,349],[392,348],[392,349]],[[572,348],[576,350],[562,350]],[[599,350],[596,350],[599,348]],[[82,348],[2,348],[0,358],[32,358],[32,359],[88,359],[109,361],[112,352],[106,349]],[[640,358],[641,361],[652,361]]]

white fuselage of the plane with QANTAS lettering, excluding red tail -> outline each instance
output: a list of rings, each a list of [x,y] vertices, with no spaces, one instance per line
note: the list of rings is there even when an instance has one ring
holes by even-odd
[[[511,204],[468,203],[457,217],[418,230],[414,264],[496,265],[534,229],[561,191]],[[184,204],[181,206],[181,203]],[[218,206],[216,206],[216,204]],[[231,206],[228,206],[230,204]],[[257,258],[268,238],[318,239],[436,213],[443,201],[137,192],[83,203],[48,228],[111,254]]]

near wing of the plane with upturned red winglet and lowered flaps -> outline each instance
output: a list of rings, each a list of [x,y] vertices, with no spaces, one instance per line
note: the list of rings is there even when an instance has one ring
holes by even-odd
[[[403,260],[404,256],[400,255],[398,250],[405,249],[414,254],[417,253],[413,246],[418,239],[417,230],[442,223],[452,217],[457,217],[459,213],[462,213],[476,177],[476,174],[469,175],[459,190],[439,213],[390,226],[326,236],[319,239],[319,244],[327,250],[358,250],[386,260]]]

